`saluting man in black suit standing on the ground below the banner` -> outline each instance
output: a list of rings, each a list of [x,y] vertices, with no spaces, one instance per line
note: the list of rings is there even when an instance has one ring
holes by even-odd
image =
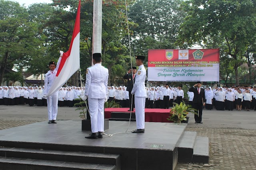
[[[205,93],[204,89],[201,88],[201,82],[198,81],[194,87],[190,87],[188,90],[194,93],[194,98],[192,101],[192,107],[198,110],[198,115],[195,114],[196,123],[202,123],[202,111],[205,105]]]

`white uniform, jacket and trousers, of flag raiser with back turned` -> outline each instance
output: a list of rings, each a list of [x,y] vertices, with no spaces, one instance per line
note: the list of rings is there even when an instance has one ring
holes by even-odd
[[[108,69],[96,63],[86,70],[84,95],[88,96],[92,133],[104,132],[104,100],[108,92]]]

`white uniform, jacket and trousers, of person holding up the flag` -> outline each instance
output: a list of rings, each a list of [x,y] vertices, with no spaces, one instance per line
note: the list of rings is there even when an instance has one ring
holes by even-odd
[[[54,78],[56,77],[59,65],[60,65],[60,61],[61,58],[59,58],[58,62],[57,62],[57,66],[56,68],[53,70],[53,72],[51,72],[50,70],[44,75],[44,95],[46,95],[48,93],[48,91],[50,90],[52,83],[54,82]],[[56,91],[55,93],[53,93],[52,95],[47,97],[47,109],[48,109],[48,120],[52,121],[52,120],[56,120],[57,117],[57,113],[58,113],[58,95],[59,92]]]

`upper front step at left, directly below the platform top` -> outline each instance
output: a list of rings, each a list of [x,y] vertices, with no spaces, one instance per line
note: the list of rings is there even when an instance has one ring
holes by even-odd
[[[0,156],[8,158],[26,158],[89,164],[120,164],[120,155],[118,154],[70,152],[61,150],[42,150],[31,148],[0,147]]]

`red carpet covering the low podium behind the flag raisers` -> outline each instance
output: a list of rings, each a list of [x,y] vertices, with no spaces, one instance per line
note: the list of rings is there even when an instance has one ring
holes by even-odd
[[[105,108],[105,118],[111,118],[111,112],[127,112],[130,113],[129,108]],[[170,116],[171,109],[145,109],[145,122],[167,122]],[[135,113],[134,111],[132,111]]]

